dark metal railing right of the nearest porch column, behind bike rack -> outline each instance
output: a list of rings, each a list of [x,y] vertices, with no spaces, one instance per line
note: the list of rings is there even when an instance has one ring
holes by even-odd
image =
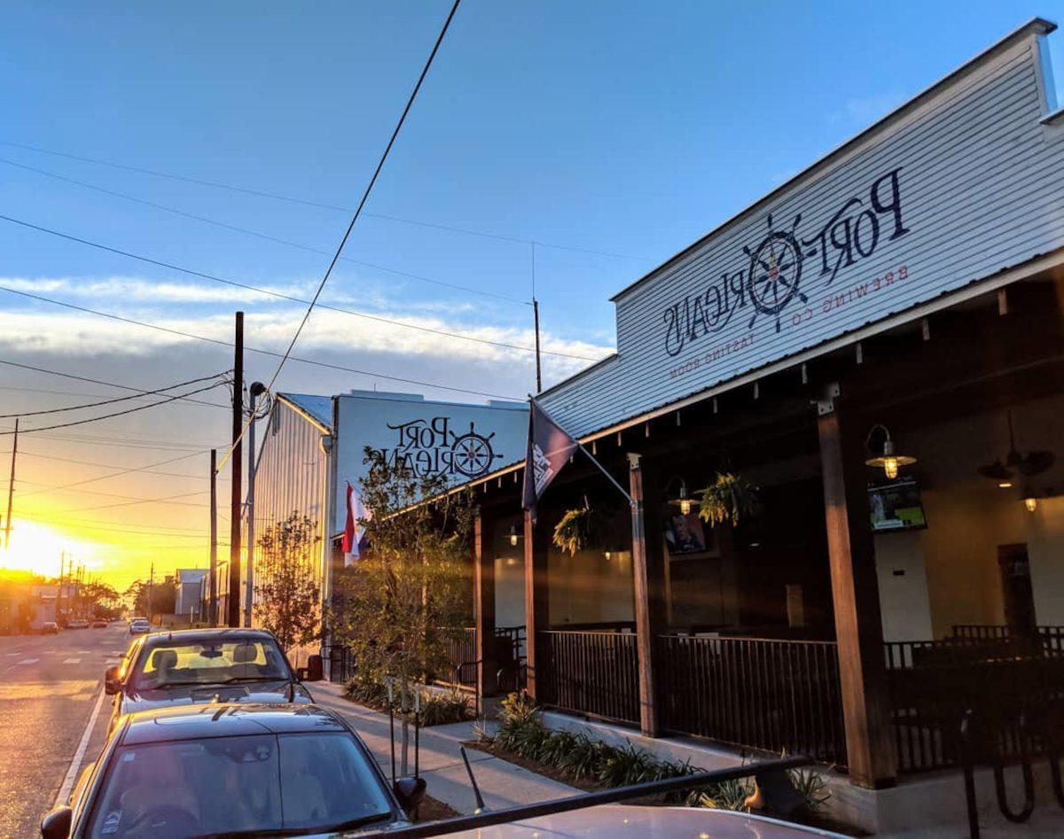
[[[994,760],[1041,754],[1064,703],[1060,643],[1057,632],[1018,637],[980,630],[884,644],[899,771],[958,766],[968,711],[995,732],[987,745]]]

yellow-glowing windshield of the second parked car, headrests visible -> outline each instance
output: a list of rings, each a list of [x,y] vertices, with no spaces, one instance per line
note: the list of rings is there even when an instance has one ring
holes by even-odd
[[[163,641],[140,655],[132,685],[153,690],[173,685],[287,679],[290,671],[272,638]]]

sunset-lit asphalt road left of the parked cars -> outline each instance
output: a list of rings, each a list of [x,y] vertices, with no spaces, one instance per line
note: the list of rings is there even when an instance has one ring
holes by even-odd
[[[83,765],[103,743],[103,671],[129,645],[124,623],[59,635],[0,636],[0,837],[39,836],[86,728]]]

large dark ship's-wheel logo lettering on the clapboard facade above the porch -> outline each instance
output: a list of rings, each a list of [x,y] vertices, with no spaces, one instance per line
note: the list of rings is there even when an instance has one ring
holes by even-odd
[[[665,352],[679,355],[688,342],[720,332],[741,309],[749,305],[753,315],[772,319],[780,331],[781,316],[797,299],[809,300],[799,288],[807,259],[818,265],[817,278],[828,288],[838,272],[871,256],[882,241],[893,241],[909,233],[901,218],[901,168],[877,178],[867,191],[851,196],[820,230],[799,238],[802,215],[795,216],[787,230],[774,230],[768,216],[768,233],[755,248],[744,246],[749,258],[746,268],[726,271],[697,295],[686,295],[668,305],[665,323]]]

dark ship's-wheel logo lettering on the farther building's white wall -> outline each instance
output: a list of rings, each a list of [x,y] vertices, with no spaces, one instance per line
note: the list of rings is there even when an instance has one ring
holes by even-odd
[[[381,453],[389,464],[405,466],[417,475],[480,477],[502,457],[492,447],[495,432],[480,434],[475,422],[463,434],[451,429],[450,417],[388,423],[388,429],[396,432],[396,444]]]

